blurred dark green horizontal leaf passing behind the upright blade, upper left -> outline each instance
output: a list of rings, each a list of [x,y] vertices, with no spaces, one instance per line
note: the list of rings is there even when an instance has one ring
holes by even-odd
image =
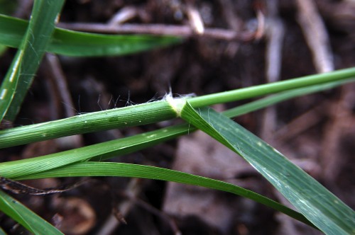
[[[18,47],[27,21],[0,15],[0,44]],[[127,55],[181,42],[181,38],[153,35],[104,35],[55,28],[47,51],[74,57]]]

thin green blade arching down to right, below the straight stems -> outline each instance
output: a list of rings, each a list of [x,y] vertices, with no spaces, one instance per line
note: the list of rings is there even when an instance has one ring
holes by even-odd
[[[275,202],[268,197],[254,193],[251,190],[246,190],[231,183],[226,183],[220,180],[214,180],[202,176],[195,176],[190,173],[173,171],[165,168],[154,166],[144,166],[138,164],[124,164],[111,162],[81,162],[71,164],[69,166],[55,168],[50,171],[44,171],[29,176],[24,176],[18,179],[34,179],[34,178],[52,178],[52,177],[67,177],[67,176],[121,176],[121,177],[136,177],[150,178],[154,180],[166,180],[177,183],[185,183],[189,185],[197,185],[205,188],[222,190],[229,193],[234,193],[242,197],[249,198],[263,205],[267,205],[275,210],[288,214],[300,222],[311,225],[305,217],[291,210],[278,202]]]

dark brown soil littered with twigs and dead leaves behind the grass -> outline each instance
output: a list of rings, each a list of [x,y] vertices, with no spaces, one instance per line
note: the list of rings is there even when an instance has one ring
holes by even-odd
[[[19,3],[14,15],[28,18],[31,1]],[[179,45],[137,55],[45,57],[14,125],[144,103],[161,98],[170,87],[173,93],[200,96],[354,67],[354,12],[354,1],[331,0],[67,1],[62,23],[108,23],[118,14],[127,16],[124,24],[135,23],[142,28],[160,24],[161,30],[169,25],[192,30]],[[224,34],[210,33],[216,29]],[[14,52],[8,50],[2,55],[1,77]],[[235,120],[355,208],[354,91],[355,84],[349,84]],[[224,110],[242,103],[246,101],[215,108]],[[175,122],[1,149],[0,156],[6,161],[40,156]],[[253,168],[200,132],[113,161],[218,178],[288,203]],[[26,183],[51,188],[77,180]],[[251,200],[156,180],[95,178],[60,195],[14,197],[65,234],[320,234]],[[3,214],[0,225],[9,234],[22,231]]]

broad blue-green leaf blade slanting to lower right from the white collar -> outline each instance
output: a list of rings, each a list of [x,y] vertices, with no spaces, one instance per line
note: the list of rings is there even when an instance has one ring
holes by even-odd
[[[325,234],[355,233],[350,207],[244,127],[212,108],[195,110],[188,101],[181,116],[241,155]]]

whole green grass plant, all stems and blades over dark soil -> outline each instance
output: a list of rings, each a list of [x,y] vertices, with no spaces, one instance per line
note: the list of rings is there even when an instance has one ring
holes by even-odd
[[[60,13],[62,4],[63,1],[57,0],[35,0],[29,22],[0,16],[0,44],[18,47],[18,53],[0,88],[1,120],[4,117],[8,120],[16,118],[45,52],[70,56],[126,55],[182,41],[181,38],[166,36],[99,35],[55,28],[55,18]],[[44,8],[50,11],[43,11]],[[38,24],[36,23],[38,21],[48,23]],[[353,82],[354,77],[355,68],[349,68],[207,96],[173,98],[170,94],[161,101],[1,130],[0,148],[7,148],[72,134],[146,125],[176,117],[181,117],[186,122],[92,146],[35,156],[31,159],[3,162],[0,164],[0,177],[24,180],[71,176],[120,176],[168,180],[241,195],[288,214],[300,222],[320,229],[325,234],[354,234],[355,213],[351,208],[273,147],[230,119],[296,96]],[[271,94],[273,96],[226,110],[224,113],[217,113],[208,107],[216,103]],[[235,151],[236,155],[243,157],[271,182],[297,211],[268,197],[221,180],[153,166],[105,162],[111,157],[152,147],[195,130],[206,132]],[[58,229],[1,190],[0,210],[33,234],[61,234]]]

